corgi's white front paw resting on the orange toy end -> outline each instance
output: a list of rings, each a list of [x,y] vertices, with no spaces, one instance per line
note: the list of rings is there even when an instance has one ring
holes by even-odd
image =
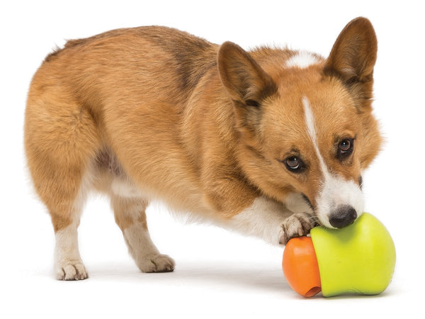
[[[316,225],[316,219],[310,213],[295,213],[285,219],[281,225],[279,243],[286,243],[293,237],[305,236]]]

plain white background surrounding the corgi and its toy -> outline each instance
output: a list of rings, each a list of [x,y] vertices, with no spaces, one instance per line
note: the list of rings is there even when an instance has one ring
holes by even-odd
[[[1,318],[385,318],[423,308],[424,10],[420,1],[5,1],[0,5]],[[146,3],[145,3],[146,2]],[[329,54],[356,16],[378,35],[375,115],[386,144],[365,174],[366,210],[397,248],[392,284],[380,296],[304,299],[286,284],[282,249],[209,225],[186,225],[149,208],[154,242],[176,259],[170,274],[141,274],[106,198],[86,206],[79,228],[86,281],[55,281],[54,234],[30,186],[23,113],[30,79],[64,39],[113,28],[173,26],[215,43]]]

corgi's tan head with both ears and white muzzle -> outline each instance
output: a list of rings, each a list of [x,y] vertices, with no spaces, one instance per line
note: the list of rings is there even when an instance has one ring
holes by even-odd
[[[341,31],[327,59],[224,43],[222,84],[234,104],[237,157],[264,194],[302,194],[320,223],[342,228],[363,212],[362,172],[380,150],[372,114],[377,40],[370,21]]]

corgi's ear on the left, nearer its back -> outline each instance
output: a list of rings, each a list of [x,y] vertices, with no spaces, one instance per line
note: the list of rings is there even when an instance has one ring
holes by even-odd
[[[259,106],[263,99],[276,91],[271,77],[239,45],[223,43],[217,62],[221,82],[235,102]]]

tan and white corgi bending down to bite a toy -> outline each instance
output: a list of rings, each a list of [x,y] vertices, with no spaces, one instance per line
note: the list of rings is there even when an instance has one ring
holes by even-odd
[[[348,23],[327,58],[159,26],[47,55],[28,92],[25,150],[55,230],[57,279],[88,276],[77,227],[92,190],[111,198],[142,272],[174,270],[149,237],[153,200],[276,245],[353,223],[381,143],[376,57],[366,18]]]

